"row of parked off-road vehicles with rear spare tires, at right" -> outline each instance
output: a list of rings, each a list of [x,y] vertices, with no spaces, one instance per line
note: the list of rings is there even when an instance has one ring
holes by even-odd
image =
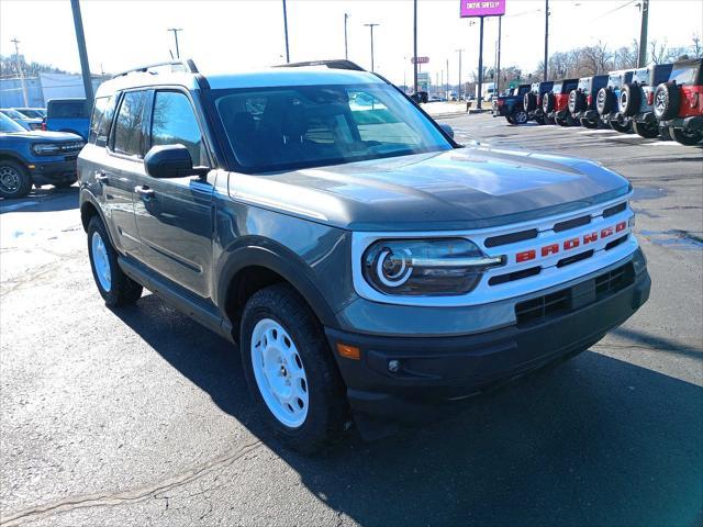
[[[703,141],[703,59],[521,85],[494,101],[493,116],[511,124],[607,126],[695,145]]]

